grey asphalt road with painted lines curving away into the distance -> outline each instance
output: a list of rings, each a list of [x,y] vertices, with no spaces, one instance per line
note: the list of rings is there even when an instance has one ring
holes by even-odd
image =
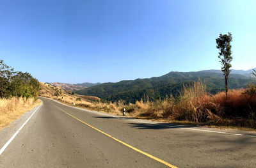
[[[256,167],[253,132],[156,124],[40,100],[0,167]],[[0,148],[14,128],[0,132]]]

